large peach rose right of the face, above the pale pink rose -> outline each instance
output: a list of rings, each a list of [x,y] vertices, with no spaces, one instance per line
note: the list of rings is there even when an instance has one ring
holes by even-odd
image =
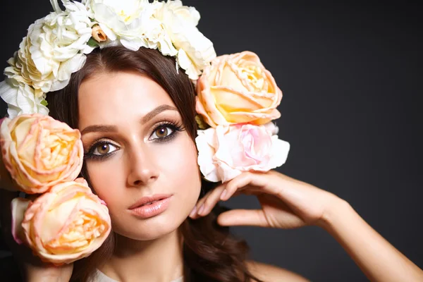
[[[261,125],[279,118],[282,92],[259,57],[250,52],[219,56],[197,82],[197,113],[210,126]]]

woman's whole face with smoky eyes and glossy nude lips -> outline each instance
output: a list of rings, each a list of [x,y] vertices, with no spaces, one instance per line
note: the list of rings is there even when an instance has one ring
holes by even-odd
[[[82,82],[78,99],[88,176],[114,232],[152,240],[175,231],[201,181],[197,149],[166,91],[137,73],[101,73]]]

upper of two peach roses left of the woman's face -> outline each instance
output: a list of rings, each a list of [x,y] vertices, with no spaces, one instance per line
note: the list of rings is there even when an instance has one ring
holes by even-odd
[[[21,191],[46,192],[74,180],[84,152],[79,130],[41,114],[6,118],[0,127],[4,166]]]

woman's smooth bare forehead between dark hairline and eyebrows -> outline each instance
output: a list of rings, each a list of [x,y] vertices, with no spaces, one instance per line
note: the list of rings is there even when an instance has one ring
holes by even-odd
[[[139,120],[163,104],[175,106],[168,93],[151,78],[134,72],[101,73],[80,85],[79,128]]]

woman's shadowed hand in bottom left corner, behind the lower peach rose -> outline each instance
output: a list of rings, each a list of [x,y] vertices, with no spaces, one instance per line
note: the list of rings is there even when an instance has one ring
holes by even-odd
[[[73,264],[54,266],[53,264],[42,262],[32,254],[29,247],[25,244],[19,245],[13,239],[11,232],[11,201],[15,197],[18,197],[18,192],[10,192],[0,188],[1,235],[16,262],[18,262],[24,281],[69,281],[73,271]]]

